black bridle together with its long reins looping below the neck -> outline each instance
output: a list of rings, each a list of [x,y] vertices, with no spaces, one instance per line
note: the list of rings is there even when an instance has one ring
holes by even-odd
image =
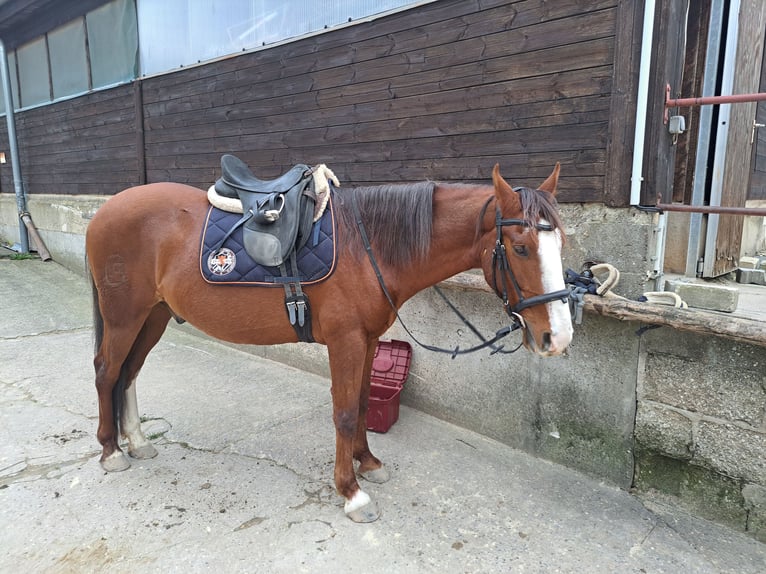
[[[518,191],[519,188],[514,188],[514,191]],[[479,221],[482,221],[484,219],[484,216],[487,212],[487,208],[489,207],[490,202],[494,199],[494,197],[490,197],[487,202],[484,204],[484,207],[481,210],[481,213],[479,215]],[[464,355],[467,353],[473,353],[474,351],[479,351],[481,349],[485,349],[487,347],[490,347],[492,349],[492,354],[495,353],[514,353],[521,348],[521,343],[519,345],[510,351],[503,350],[503,345],[495,345],[497,341],[511,333],[512,331],[515,331],[517,329],[522,329],[525,333],[528,331],[528,327],[526,324],[526,321],[524,321],[524,318],[521,316],[521,311],[524,309],[527,309],[529,307],[535,306],[535,305],[543,305],[545,303],[550,303],[552,301],[563,301],[566,302],[569,299],[570,291],[569,289],[562,289],[560,291],[554,291],[552,293],[544,293],[542,295],[534,295],[532,297],[525,298],[523,293],[521,292],[521,287],[519,287],[519,283],[516,280],[516,276],[513,274],[513,270],[511,269],[511,264],[508,261],[508,254],[506,253],[505,244],[503,243],[503,227],[508,227],[512,225],[521,225],[522,227],[534,227],[538,231],[553,231],[554,228],[550,224],[544,224],[544,223],[536,223],[532,224],[531,222],[524,220],[524,219],[503,219],[502,214],[500,213],[499,208],[495,208],[495,228],[497,230],[497,240],[495,241],[495,248],[492,250],[492,288],[494,289],[495,293],[498,297],[503,301],[503,308],[505,309],[505,312],[508,314],[508,316],[511,318],[512,323],[506,327],[501,328],[495,333],[495,336],[491,339],[486,339],[481,335],[481,333],[474,327],[468,319],[466,319],[460,311],[457,310],[457,308],[447,299],[446,295],[439,289],[436,285],[434,285],[434,289],[436,292],[444,299],[444,301],[449,305],[449,307],[460,317],[463,322],[471,329],[471,331],[481,339],[482,343],[479,345],[475,345],[474,347],[471,347],[469,349],[460,349],[460,347],[455,347],[454,349],[445,349],[442,347],[436,347],[433,345],[427,345],[424,343],[421,343],[413,334],[410,332],[410,330],[407,328],[407,326],[404,324],[404,321],[402,321],[401,316],[399,315],[399,311],[396,308],[396,305],[394,304],[394,300],[391,297],[391,294],[388,292],[388,288],[386,287],[385,282],[383,281],[383,275],[380,271],[380,267],[378,266],[378,262],[375,259],[375,255],[372,252],[372,245],[370,243],[369,236],[367,235],[367,230],[365,228],[364,222],[362,221],[362,216],[359,211],[359,206],[357,205],[356,201],[356,195],[351,194],[351,205],[354,209],[354,217],[356,219],[356,225],[359,228],[359,234],[362,238],[362,243],[364,245],[364,249],[367,252],[367,257],[370,260],[370,264],[372,265],[373,271],[375,271],[375,276],[378,278],[378,283],[380,284],[380,288],[383,290],[383,294],[386,296],[386,299],[388,300],[389,305],[391,306],[391,309],[393,309],[394,314],[396,315],[396,318],[399,320],[399,323],[404,328],[404,330],[407,332],[407,334],[412,338],[415,343],[420,345],[426,350],[429,351],[435,351],[438,353],[449,353],[452,358],[454,359],[457,355]],[[497,285],[497,272],[500,271],[500,277],[502,279],[502,290],[498,288]],[[510,305],[510,302],[508,300],[508,282],[506,280],[506,277],[510,277],[511,279],[511,285],[513,286],[514,292],[516,293],[516,296],[518,298],[518,302],[516,305]]]

